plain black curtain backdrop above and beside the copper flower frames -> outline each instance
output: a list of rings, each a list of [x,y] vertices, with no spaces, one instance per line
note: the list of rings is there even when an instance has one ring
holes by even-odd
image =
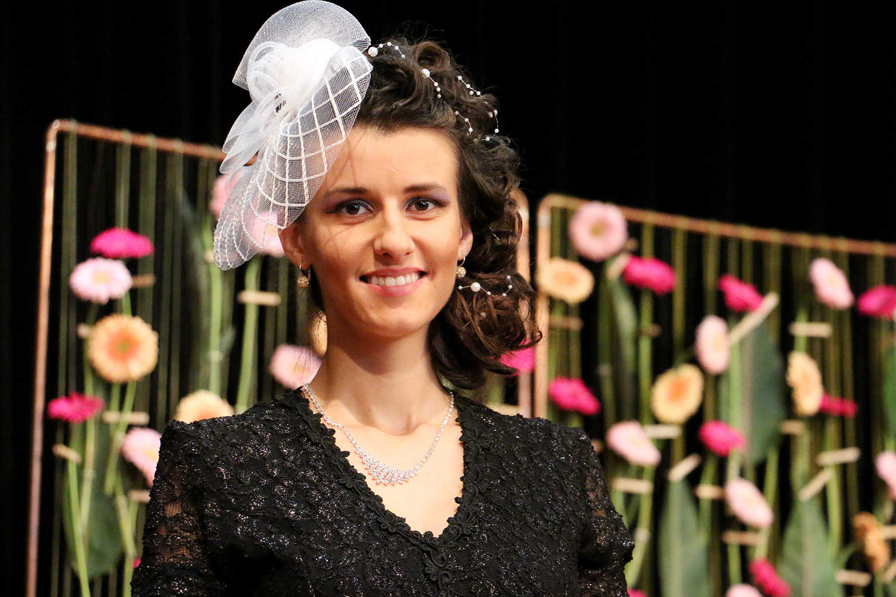
[[[248,102],[230,78],[283,5],[25,1],[0,17],[0,593],[24,586],[47,125],[222,143]],[[447,40],[504,101],[533,200],[896,241],[896,4],[343,5],[374,39]]]

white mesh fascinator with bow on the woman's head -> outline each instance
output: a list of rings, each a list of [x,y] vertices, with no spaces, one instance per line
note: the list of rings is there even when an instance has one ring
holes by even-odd
[[[367,92],[369,46],[358,20],[323,0],[287,6],[255,34],[233,78],[252,103],[230,129],[220,167],[239,177],[215,229],[221,269],[251,259],[320,188]]]

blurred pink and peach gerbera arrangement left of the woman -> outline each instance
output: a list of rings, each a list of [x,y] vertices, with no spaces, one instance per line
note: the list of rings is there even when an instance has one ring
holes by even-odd
[[[202,375],[177,402],[172,418],[196,422],[211,417],[242,413],[254,404],[260,368],[258,322],[260,306],[277,307],[279,295],[260,290],[263,260],[283,257],[279,241],[250,260],[245,268],[244,289],[238,294],[243,307],[241,338],[225,317],[227,294],[224,273],[208,259],[215,218],[227,192],[237,183],[220,176],[211,189],[205,217],[189,212],[186,226],[194,226],[195,262],[202,264]],[[182,206],[181,209],[185,209]],[[82,341],[83,375],[78,388],[49,401],[47,416],[68,427],[65,442],[54,453],[65,461],[64,527],[66,544],[81,594],[90,595],[91,582],[119,566],[124,556],[123,591],[130,594],[130,579],[139,565],[139,508],[149,500],[161,434],[147,426],[148,413],[134,412],[138,384],[159,364],[159,333],[132,312],[134,288],[151,285],[145,276],[132,273],[139,261],[155,253],[151,240],[123,227],[96,235],[90,242],[96,256],[75,265],[68,278],[72,295],[88,303],[86,318],[78,325]],[[279,267],[279,266],[278,266]],[[241,340],[241,345],[237,342]],[[297,388],[314,377],[326,350],[326,323],[322,315],[309,321],[308,341],[313,347],[277,346],[266,368],[284,389]],[[221,396],[226,375],[221,363],[231,346],[239,351],[235,404]],[[166,421],[157,421],[159,429]]]

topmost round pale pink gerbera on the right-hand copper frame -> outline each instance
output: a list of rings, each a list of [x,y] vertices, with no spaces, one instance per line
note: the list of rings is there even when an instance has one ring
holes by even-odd
[[[615,205],[588,201],[575,210],[569,223],[569,237],[582,257],[602,261],[622,251],[628,240],[628,226]]]

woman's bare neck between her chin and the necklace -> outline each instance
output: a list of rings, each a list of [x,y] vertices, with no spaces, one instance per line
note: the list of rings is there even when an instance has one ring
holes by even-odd
[[[426,328],[401,338],[359,338],[338,324],[311,383],[323,410],[347,427],[405,435],[444,417],[444,392],[426,346]]]

